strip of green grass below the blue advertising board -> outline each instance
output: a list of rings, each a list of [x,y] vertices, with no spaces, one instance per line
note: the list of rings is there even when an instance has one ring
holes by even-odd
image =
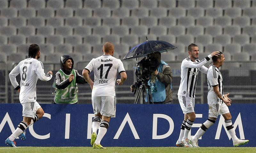
[[[92,147],[0,147],[0,153],[256,153],[255,147],[107,147],[93,149]]]

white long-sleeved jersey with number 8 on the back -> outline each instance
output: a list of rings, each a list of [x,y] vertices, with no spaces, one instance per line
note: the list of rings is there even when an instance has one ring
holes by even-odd
[[[36,102],[36,84],[38,78],[42,81],[52,79],[52,74],[44,73],[44,65],[34,58],[27,58],[15,66],[9,74],[12,86],[17,88],[19,83],[16,76],[20,74],[20,103]]]

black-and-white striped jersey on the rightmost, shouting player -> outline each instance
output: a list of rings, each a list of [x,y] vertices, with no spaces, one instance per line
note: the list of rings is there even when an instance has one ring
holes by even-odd
[[[220,94],[223,96],[222,75],[218,67],[211,65],[207,73],[208,103],[220,104],[222,100],[213,91],[213,86],[219,86]]]

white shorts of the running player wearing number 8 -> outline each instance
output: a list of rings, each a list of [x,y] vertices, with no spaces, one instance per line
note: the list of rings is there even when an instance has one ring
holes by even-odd
[[[35,118],[36,111],[41,108],[39,103],[36,102],[25,102],[22,105],[22,116]]]

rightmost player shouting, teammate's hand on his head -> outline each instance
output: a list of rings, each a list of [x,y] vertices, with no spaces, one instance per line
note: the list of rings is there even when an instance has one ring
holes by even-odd
[[[223,94],[223,78],[219,68],[225,61],[224,54],[220,52],[220,55],[212,57],[212,60],[213,64],[209,67],[207,73],[209,90],[207,95],[207,101],[209,105],[208,119],[198,129],[196,135],[189,140],[189,143],[191,143],[193,147],[199,147],[198,139],[203,136],[205,131],[215,123],[218,115],[222,115],[225,119],[226,129],[232,137],[234,147],[244,145],[248,143],[249,140],[240,140],[237,138],[234,126],[232,124],[232,117],[228,109],[228,106],[231,105],[231,100],[228,98],[229,93]]]

